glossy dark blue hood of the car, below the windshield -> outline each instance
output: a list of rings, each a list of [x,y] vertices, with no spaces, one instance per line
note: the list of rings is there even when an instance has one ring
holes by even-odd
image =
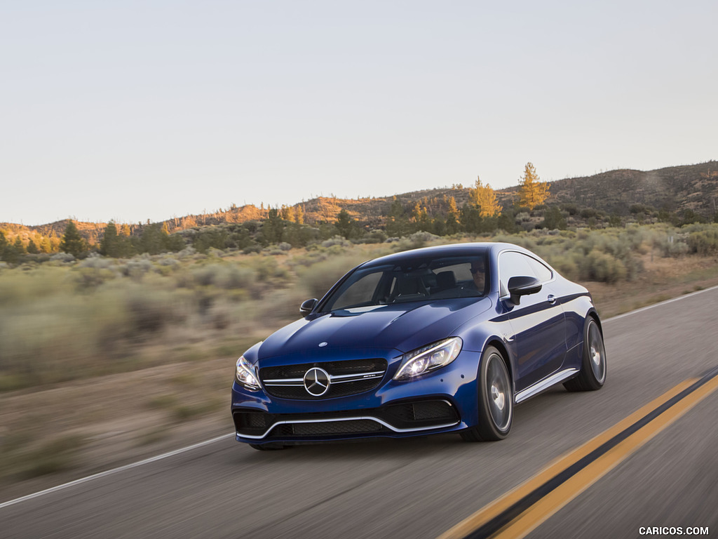
[[[340,349],[396,349],[404,353],[452,336],[456,328],[490,306],[489,298],[456,298],[310,315],[266,338],[259,346],[258,359],[316,357]]]

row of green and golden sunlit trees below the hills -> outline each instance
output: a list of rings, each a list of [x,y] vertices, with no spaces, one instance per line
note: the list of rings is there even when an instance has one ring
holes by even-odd
[[[566,229],[569,220],[576,226],[603,228],[621,226],[622,217],[616,213],[607,215],[595,208],[578,208],[575,203],[561,206],[546,206],[549,198],[549,184],[542,182],[531,162],[524,167],[520,178],[518,198],[509,206],[502,206],[489,184],[477,177],[475,185],[469,188],[467,201],[460,208],[452,195],[443,195],[419,201],[402,203],[394,197],[383,213],[383,222],[362,221],[354,218],[346,209],[335,203],[324,208],[325,219],[318,223],[306,224],[301,209],[282,206],[269,208],[266,218],[242,223],[223,223],[214,226],[193,226],[172,234],[167,223],[148,224],[134,231],[128,225],[118,226],[110,222],[105,227],[98,244],[90,245],[78,231],[75,223],[67,223],[62,239],[53,238],[52,244],[46,238],[37,241],[29,239],[24,244],[19,234],[14,241],[7,239],[0,231],[0,260],[17,264],[23,257],[52,252],[65,252],[75,258],[83,258],[96,252],[106,257],[129,258],[135,254],[159,254],[177,252],[193,247],[198,252],[209,249],[238,249],[242,252],[259,252],[267,247],[291,249],[326,241],[335,236],[345,240],[376,243],[390,238],[401,238],[416,232],[428,232],[437,236],[452,234],[493,234],[501,230],[508,234],[534,228]],[[686,210],[682,215],[643,204],[628,208],[632,221],[663,221],[676,226],[705,222],[699,214]],[[718,221],[718,214],[715,221]],[[27,238],[26,238],[27,240]]]

